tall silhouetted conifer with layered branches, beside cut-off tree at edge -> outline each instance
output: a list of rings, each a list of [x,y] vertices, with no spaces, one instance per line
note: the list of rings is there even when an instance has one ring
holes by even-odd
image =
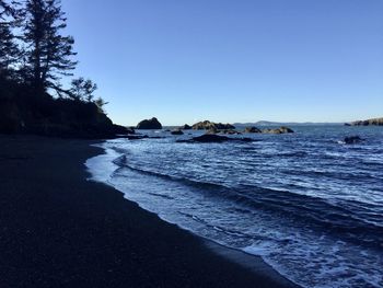
[[[37,92],[60,88],[62,76],[71,76],[74,41],[60,33],[67,26],[60,0],[26,0],[23,39],[27,45],[30,81]]]

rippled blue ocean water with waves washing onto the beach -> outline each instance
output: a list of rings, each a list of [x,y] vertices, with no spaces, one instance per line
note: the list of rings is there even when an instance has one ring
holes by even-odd
[[[292,128],[224,143],[150,131],[162,138],[108,140],[86,165],[142,208],[260,255],[302,287],[383,287],[383,128]],[[365,141],[345,145],[350,135]]]

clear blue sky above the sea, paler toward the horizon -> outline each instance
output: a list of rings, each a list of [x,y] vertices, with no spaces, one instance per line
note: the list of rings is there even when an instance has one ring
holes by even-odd
[[[115,123],[383,116],[382,0],[62,0]]]

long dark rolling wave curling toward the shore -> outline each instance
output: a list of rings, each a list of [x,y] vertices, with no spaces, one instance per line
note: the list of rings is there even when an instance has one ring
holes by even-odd
[[[126,155],[115,159],[114,163],[119,169],[129,169],[143,175],[177,182],[193,187],[194,191],[202,193],[205,196],[235,201],[242,207],[263,210],[274,215],[274,217],[290,219],[302,226],[310,222],[312,229],[316,229],[320,233],[334,234],[356,244],[381,249],[381,243],[383,243],[383,217],[372,212],[376,208],[374,206],[369,207],[358,201],[330,201],[310,195],[256,185],[241,185],[234,188],[223,184],[177,177],[129,165]]]

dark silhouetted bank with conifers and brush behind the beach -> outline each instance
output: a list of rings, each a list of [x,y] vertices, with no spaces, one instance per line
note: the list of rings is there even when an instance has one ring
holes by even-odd
[[[62,35],[66,22],[60,0],[0,0],[0,133],[81,138],[116,133],[92,80],[81,77],[62,88],[61,79],[77,65],[73,37]]]

